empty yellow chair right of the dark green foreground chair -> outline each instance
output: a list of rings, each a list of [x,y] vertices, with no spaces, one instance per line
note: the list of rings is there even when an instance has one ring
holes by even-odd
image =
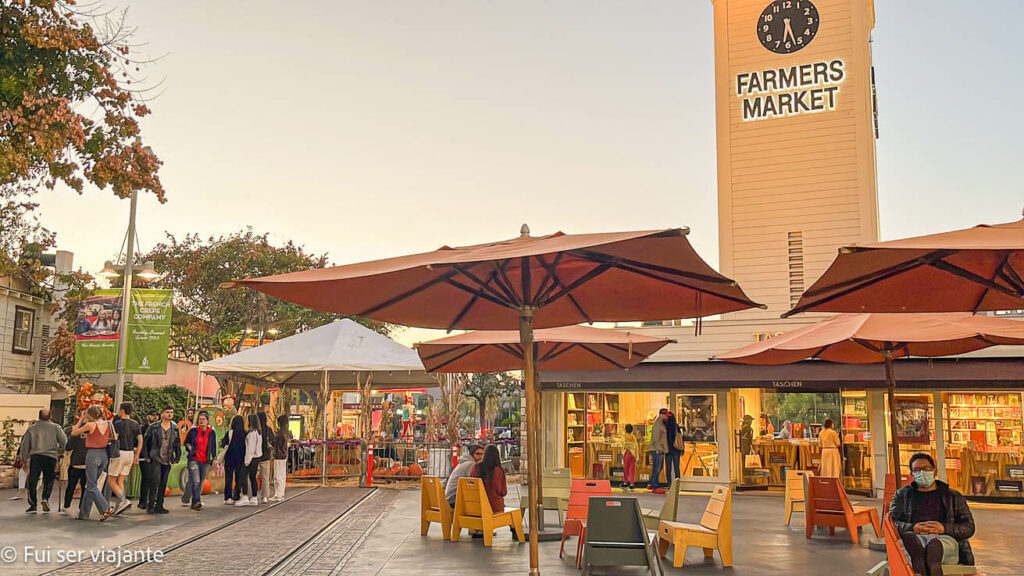
[[[715,550],[722,557],[722,566],[732,566],[732,493],[725,486],[716,486],[700,524],[662,521],[657,529],[657,553],[665,556],[669,545],[675,546],[672,566],[681,568],[687,546],[699,546],[705,558]]]

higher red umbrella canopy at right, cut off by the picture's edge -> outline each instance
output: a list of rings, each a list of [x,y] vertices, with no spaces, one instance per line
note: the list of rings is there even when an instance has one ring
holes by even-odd
[[[782,316],[1017,308],[1024,308],[1024,219],[844,246]]]

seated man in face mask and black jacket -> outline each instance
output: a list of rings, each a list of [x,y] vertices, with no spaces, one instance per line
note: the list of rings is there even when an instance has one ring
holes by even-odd
[[[971,542],[974,517],[964,495],[935,480],[935,460],[928,454],[910,457],[913,482],[901,488],[889,504],[889,516],[900,533],[913,571],[942,576],[943,564],[974,566]]]

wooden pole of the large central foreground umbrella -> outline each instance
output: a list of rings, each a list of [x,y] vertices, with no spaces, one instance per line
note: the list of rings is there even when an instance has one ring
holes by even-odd
[[[538,559],[538,532],[540,524],[538,519],[540,513],[540,492],[541,459],[534,446],[538,444],[536,438],[541,430],[541,422],[537,418],[537,372],[534,366],[534,313],[531,310],[520,311],[519,316],[519,342],[522,344],[523,367],[522,375],[526,380],[526,433],[528,451],[526,453],[526,493],[529,502],[529,574],[540,576],[541,567]],[[535,440],[529,440],[530,438]]]

